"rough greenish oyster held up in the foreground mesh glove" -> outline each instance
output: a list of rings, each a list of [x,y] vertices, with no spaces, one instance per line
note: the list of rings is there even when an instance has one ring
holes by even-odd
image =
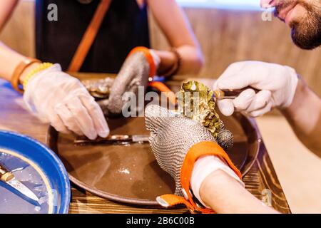
[[[188,81],[183,83],[178,93],[180,114],[198,121],[212,133],[224,150],[233,146],[233,134],[226,130],[220,116],[215,112],[213,91],[203,83]]]

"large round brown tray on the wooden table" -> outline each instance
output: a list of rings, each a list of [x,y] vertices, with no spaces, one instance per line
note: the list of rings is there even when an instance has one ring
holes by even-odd
[[[245,116],[223,118],[235,137],[231,160],[245,175],[260,149],[260,135]],[[112,135],[146,135],[144,118],[108,121]],[[47,145],[63,161],[71,182],[100,197],[129,204],[158,205],[156,197],[175,191],[173,179],[158,166],[148,143],[74,145],[73,135],[49,128]]]

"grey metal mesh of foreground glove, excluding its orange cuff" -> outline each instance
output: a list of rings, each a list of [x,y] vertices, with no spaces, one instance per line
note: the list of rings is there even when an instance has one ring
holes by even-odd
[[[156,160],[175,180],[175,195],[183,196],[180,169],[186,153],[196,143],[216,142],[215,138],[195,120],[158,105],[148,105],[145,115],[146,128],[151,131],[150,144]]]

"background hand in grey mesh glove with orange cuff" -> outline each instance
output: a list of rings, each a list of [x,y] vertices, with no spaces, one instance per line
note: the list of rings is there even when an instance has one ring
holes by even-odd
[[[127,100],[123,100],[126,92],[138,95],[138,87],[146,88],[148,78],[155,76],[161,59],[152,50],[144,47],[134,48],[121,67],[121,71],[111,86],[109,98],[99,101],[105,115],[122,113]]]

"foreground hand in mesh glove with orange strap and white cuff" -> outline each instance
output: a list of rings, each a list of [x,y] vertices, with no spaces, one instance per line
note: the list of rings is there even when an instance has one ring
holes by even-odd
[[[158,105],[148,105],[145,113],[146,128],[151,131],[151,148],[158,164],[175,180],[175,195],[188,199],[191,186],[195,197],[202,202],[200,185],[218,169],[241,182],[240,172],[203,125]],[[200,165],[195,166],[192,172],[194,162],[198,162],[196,160],[199,157],[204,157],[205,160],[200,160]],[[157,200],[165,207],[173,205],[175,200],[168,197],[165,195]],[[193,202],[190,204],[193,205]]]

